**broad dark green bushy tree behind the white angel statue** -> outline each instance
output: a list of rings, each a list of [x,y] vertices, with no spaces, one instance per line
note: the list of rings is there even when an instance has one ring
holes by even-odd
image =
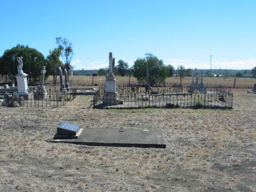
[[[20,44],[12,49],[7,49],[3,53],[0,62],[0,74],[6,76],[9,81],[13,81],[14,76],[17,75],[18,62],[16,58],[20,56],[23,57],[23,72],[28,74],[30,84],[40,81],[42,66],[46,66],[45,79],[47,79],[51,70],[46,63],[44,55],[34,48]]]

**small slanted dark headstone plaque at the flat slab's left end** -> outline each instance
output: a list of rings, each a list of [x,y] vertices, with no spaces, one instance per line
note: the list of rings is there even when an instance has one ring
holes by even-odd
[[[80,125],[76,125],[69,122],[62,122],[57,127],[58,135],[76,135],[79,131]]]

